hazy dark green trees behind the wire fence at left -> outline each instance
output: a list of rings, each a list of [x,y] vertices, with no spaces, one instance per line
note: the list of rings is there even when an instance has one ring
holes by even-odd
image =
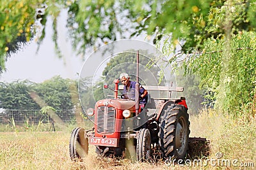
[[[10,110],[40,110],[40,106],[31,98],[36,94],[55,110],[72,110],[79,103],[77,81],[55,76],[42,83],[31,81],[13,81],[0,83],[0,108]]]

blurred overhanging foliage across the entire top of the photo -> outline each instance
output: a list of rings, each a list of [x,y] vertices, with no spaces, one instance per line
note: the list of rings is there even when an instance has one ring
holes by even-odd
[[[2,67],[7,44],[17,39],[22,32],[27,33],[29,41],[31,25],[35,24],[36,18],[43,26],[38,43],[44,39],[47,20],[52,18],[52,39],[58,48],[56,23],[63,9],[68,10],[67,27],[74,48],[79,53],[84,53],[88,45],[97,46],[118,38],[140,35],[145,31],[156,37],[156,43],[163,38],[169,39],[172,43],[164,45],[166,49],[173,49],[180,44],[182,52],[192,52],[203,49],[203,43],[208,38],[223,38],[228,32],[237,34],[243,30],[255,31],[256,25],[254,0],[4,0],[0,6],[1,11],[4,11],[0,17],[3,32],[0,38],[0,46],[3,47],[0,53]],[[36,11],[41,13],[36,15]],[[35,26],[33,28],[37,29]]]

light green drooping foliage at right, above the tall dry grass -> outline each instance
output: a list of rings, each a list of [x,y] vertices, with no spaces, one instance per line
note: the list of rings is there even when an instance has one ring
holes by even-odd
[[[230,57],[227,57],[227,39],[205,41],[209,52],[191,55],[183,66],[201,77],[200,87],[216,98],[216,106],[231,112],[248,107],[255,95],[255,32],[242,32],[230,40]],[[228,60],[227,60],[228,58]]]

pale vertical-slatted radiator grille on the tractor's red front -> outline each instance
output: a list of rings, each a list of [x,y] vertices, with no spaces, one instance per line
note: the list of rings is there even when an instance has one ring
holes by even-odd
[[[97,131],[104,134],[115,132],[115,108],[100,106],[97,113]]]

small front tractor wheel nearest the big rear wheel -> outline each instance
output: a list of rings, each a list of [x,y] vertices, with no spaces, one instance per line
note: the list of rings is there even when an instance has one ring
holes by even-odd
[[[150,157],[151,139],[148,129],[140,129],[137,139],[136,155],[138,161],[148,160]]]

